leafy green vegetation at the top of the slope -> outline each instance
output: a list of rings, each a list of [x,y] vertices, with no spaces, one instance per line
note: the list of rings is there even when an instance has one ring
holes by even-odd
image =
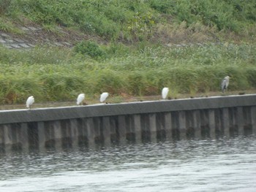
[[[251,33],[255,32],[255,15],[254,0],[0,1],[0,17],[16,23],[26,20],[50,31],[54,29],[50,25],[79,28],[108,41],[124,42],[151,39],[159,31],[159,24],[186,23],[189,28],[200,23],[202,28],[217,28],[217,31]],[[1,21],[0,28],[12,29]]]

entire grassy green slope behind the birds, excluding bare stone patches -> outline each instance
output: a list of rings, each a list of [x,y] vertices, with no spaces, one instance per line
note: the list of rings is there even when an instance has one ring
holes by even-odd
[[[219,91],[226,74],[233,77],[230,90],[255,88],[255,7],[255,1],[238,0],[1,1],[2,31],[19,34],[18,25],[32,22],[53,34],[56,26],[73,28],[104,45],[1,47],[0,102],[23,103],[31,94],[37,101],[68,101],[102,91],[150,96],[164,86],[170,96],[194,95]],[[235,44],[162,45],[219,39]]]

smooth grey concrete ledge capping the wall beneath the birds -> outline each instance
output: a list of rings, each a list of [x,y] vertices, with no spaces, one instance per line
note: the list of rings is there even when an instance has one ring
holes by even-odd
[[[0,124],[246,106],[256,106],[256,94],[121,104],[94,104],[83,107],[1,110]]]

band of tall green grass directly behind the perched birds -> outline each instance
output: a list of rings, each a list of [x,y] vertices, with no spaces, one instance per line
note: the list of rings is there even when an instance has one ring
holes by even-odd
[[[230,91],[256,88],[256,45],[122,47],[118,53],[102,47],[108,53],[102,60],[56,47],[1,47],[0,103],[24,103],[30,95],[37,102],[73,101],[78,93],[95,98],[103,91],[112,96],[154,96],[163,87],[169,87],[173,97],[193,95],[220,91],[226,75],[232,77]],[[129,54],[121,54],[127,50]]]

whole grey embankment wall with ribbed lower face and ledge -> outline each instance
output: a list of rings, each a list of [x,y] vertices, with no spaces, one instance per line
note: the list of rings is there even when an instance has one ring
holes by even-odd
[[[0,149],[253,134],[256,95],[0,111]]]

